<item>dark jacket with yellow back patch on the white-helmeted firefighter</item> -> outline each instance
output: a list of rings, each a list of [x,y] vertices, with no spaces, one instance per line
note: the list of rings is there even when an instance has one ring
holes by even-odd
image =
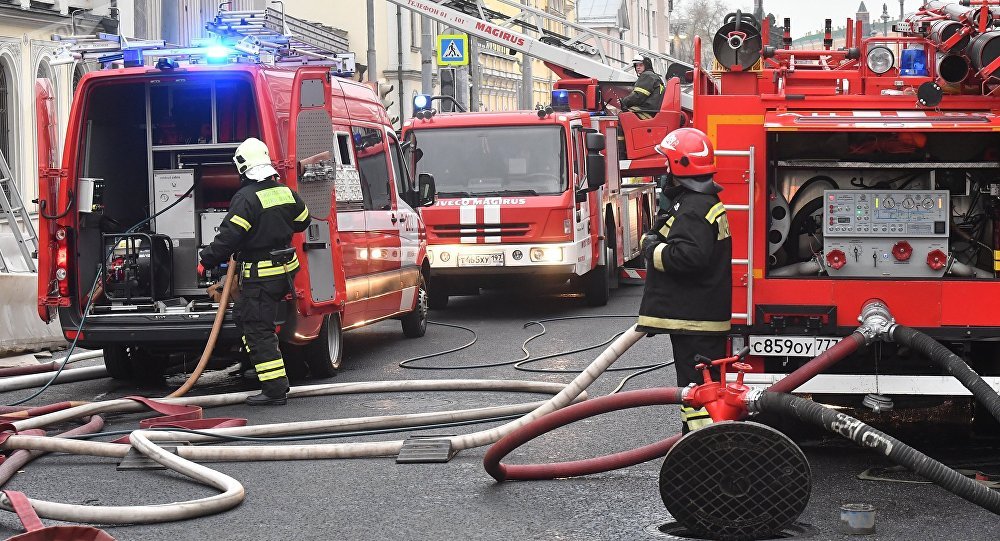
[[[244,281],[284,280],[299,268],[298,258],[273,261],[271,251],[288,248],[292,234],[305,231],[309,221],[309,209],[288,186],[271,179],[247,184],[233,196],[215,240],[201,251],[201,264],[214,268],[235,253]]]

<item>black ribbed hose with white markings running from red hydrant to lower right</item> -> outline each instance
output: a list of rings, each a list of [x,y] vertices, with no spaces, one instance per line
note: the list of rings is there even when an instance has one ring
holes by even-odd
[[[995,393],[994,393],[995,394]],[[756,400],[761,412],[772,411],[821,426],[862,447],[884,454],[889,460],[909,468],[945,490],[1000,515],[1000,492],[958,473],[892,436],[838,411],[811,400],[784,393],[765,392]]]

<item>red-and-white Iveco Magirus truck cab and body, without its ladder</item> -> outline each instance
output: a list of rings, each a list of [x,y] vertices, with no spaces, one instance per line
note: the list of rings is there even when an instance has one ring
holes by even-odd
[[[422,114],[403,139],[437,187],[421,209],[431,307],[484,286],[567,280],[600,306],[641,258],[655,188],[621,182],[617,146],[605,145],[613,125],[585,111]]]

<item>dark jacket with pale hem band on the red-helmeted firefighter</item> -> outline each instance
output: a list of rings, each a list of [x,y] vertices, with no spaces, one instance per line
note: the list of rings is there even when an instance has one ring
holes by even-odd
[[[637,330],[724,333],[732,319],[733,243],[718,195],[674,188],[673,205],[653,224]]]

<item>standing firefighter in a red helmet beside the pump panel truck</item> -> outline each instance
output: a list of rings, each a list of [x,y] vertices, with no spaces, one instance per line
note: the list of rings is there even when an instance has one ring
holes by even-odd
[[[726,356],[733,244],[708,137],[681,128],[667,134],[656,151],[667,158],[669,203],[642,238],[646,285],[637,330],[670,335],[677,386],[686,387],[702,382],[695,355]],[[712,422],[703,408],[681,410],[683,432]]]

